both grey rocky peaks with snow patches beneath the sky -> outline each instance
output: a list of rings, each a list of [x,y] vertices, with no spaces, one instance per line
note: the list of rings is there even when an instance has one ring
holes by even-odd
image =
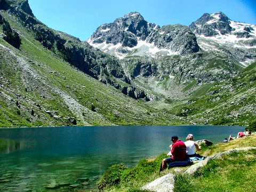
[[[131,12],[98,27],[87,39],[90,45],[119,59],[131,56],[188,56],[201,49],[218,51],[248,66],[255,60],[256,26],[230,20],[224,13],[205,13],[191,25],[167,25],[162,28]],[[235,49],[230,50],[230,46]]]

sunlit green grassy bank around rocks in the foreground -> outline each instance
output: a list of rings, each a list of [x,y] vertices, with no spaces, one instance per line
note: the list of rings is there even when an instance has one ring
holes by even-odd
[[[202,155],[211,156],[237,147],[256,147],[256,135],[228,143],[205,147]],[[182,174],[188,167],[174,167],[159,172],[165,154],[143,159],[134,167],[113,165],[98,182],[104,191],[143,191],[140,188],[167,173],[175,172],[174,191],[255,191],[256,150],[234,152],[211,159],[194,176]],[[145,190],[144,190],[145,191]]]

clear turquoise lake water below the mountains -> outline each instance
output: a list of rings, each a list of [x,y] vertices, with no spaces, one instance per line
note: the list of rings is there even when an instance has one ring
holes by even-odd
[[[243,126],[86,126],[0,129],[0,191],[91,190],[113,164],[169,151],[172,135],[222,142]],[[54,183],[59,183],[55,185]],[[56,189],[47,189],[49,186]],[[76,186],[70,187],[70,185]]]

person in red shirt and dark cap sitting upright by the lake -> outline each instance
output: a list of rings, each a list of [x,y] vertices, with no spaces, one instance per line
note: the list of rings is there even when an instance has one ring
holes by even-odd
[[[172,156],[163,159],[161,171],[165,170],[167,168],[167,164],[169,164],[169,163],[172,163],[175,161],[186,161],[187,147],[186,147],[185,143],[183,141],[179,140],[179,138],[177,136],[172,136],[171,141],[173,142],[172,150],[171,150]]]

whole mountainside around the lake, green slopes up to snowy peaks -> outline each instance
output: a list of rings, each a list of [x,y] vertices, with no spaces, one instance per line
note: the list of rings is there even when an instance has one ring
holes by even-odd
[[[208,39],[207,46],[222,50],[201,49],[201,37],[189,27],[160,28],[130,13],[100,26],[90,40],[107,45],[102,51],[123,57],[118,59],[45,26],[26,0],[0,5],[0,127],[245,125],[256,115],[255,64],[241,64],[255,59],[254,45],[233,49]],[[216,21],[207,29],[234,35],[231,21],[225,15],[219,21],[219,14],[209,14],[200,25]],[[253,42],[254,32],[248,33]],[[13,44],[17,39],[21,44]]]

